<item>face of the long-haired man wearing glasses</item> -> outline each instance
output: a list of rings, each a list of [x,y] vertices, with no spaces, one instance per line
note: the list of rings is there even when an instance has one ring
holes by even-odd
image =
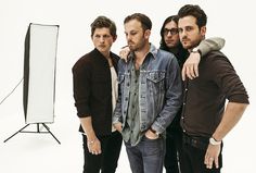
[[[178,26],[174,21],[170,21],[165,25],[164,40],[168,48],[175,48],[179,45]]]

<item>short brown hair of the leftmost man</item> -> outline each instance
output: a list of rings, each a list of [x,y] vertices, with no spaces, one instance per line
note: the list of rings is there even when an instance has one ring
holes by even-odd
[[[97,28],[110,28],[112,37],[116,37],[116,24],[106,16],[98,16],[91,24],[91,36],[93,36]]]

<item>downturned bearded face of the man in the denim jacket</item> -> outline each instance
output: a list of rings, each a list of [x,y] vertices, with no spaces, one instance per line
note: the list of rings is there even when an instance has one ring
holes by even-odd
[[[137,20],[125,23],[126,40],[131,51],[139,51],[145,46],[149,38],[146,33],[150,33],[150,30],[144,32],[141,23]]]

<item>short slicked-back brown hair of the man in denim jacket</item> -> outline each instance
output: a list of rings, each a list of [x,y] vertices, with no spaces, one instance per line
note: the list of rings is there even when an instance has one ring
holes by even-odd
[[[128,23],[131,20],[137,20],[141,23],[143,30],[150,29],[152,28],[152,22],[150,20],[149,16],[146,16],[145,14],[142,13],[135,13],[131,15],[128,15],[125,21],[124,24]]]

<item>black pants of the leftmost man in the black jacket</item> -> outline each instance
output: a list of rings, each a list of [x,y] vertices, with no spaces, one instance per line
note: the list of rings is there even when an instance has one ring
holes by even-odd
[[[87,136],[84,139],[84,173],[115,173],[121,148],[120,133],[113,132],[108,136],[98,136],[101,141],[101,155],[91,155],[87,147]]]

